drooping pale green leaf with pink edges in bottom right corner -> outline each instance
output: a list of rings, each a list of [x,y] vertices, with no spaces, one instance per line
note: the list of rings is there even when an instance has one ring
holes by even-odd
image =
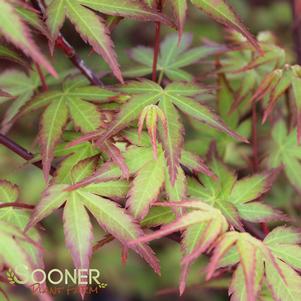
[[[300,243],[300,233],[292,228],[276,228],[264,241],[247,233],[228,232],[215,246],[207,279],[212,277],[217,264],[234,246],[239,261],[229,291],[231,300],[257,300],[263,283],[272,291],[274,300],[295,300],[300,294],[301,277],[287,258],[292,256],[297,262],[300,260],[301,253],[296,252],[300,249],[297,243]],[[282,245],[293,247],[286,250],[288,257],[277,254]]]

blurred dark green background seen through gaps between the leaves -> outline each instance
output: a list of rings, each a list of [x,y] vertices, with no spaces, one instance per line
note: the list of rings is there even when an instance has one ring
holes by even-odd
[[[230,0],[229,1],[236,11],[240,14],[242,20],[256,35],[261,31],[272,31],[275,33],[278,43],[287,50],[287,53],[293,58],[293,42],[292,42],[292,16],[289,1],[285,0]],[[162,39],[164,36],[172,32],[163,26]],[[200,46],[202,39],[210,39],[216,42],[223,42],[225,31],[223,28],[212,20],[206,18],[202,13],[193,9],[190,6],[188,13],[185,32],[193,34],[193,46]],[[85,58],[86,63],[100,75],[105,75],[109,72],[108,67],[103,60],[92,53],[91,50],[82,43],[79,36],[75,33],[72,26],[65,24],[63,34],[68,37],[71,44],[78,50],[82,57]],[[150,23],[135,22],[132,20],[122,20],[113,30],[113,40],[116,45],[118,59],[123,71],[129,70],[133,66],[133,61],[129,57],[131,48],[138,45],[152,47],[154,40],[154,25]],[[42,41],[41,41],[42,43]],[[45,49],[47,45],[44,45]],[[66,57],[56,50],[52,62],[59,72],[72,69]],[[10,69],[13,65],[7,65],[1,62],[1,68]],[[208,62],[203,62],[198,67],[197,72],[205,73],[208,68]],[[189,69],[188,69],[189,70]],[[105,83],[110,84],[113,78],[106,77]],[[6,106],[1,105],[0,115],[5,112]],[[194,128],[194,125],[189,125]],[[14,138],[18,143],[33,153],[37,152],[37,141],[34,137],[38,128],[38,114],[30,114],[20,119],[10,132],[10,137]],[[246,126],[243,134],[246,136],[249,128]],[[263,130],[263,128],[262,128]],[[187,141],[187,148],[204,154],[206,149],[203,149],[206,143],[200,142],[200,137],[189,132],[190,140]],[[198,143],[196,139],[198,138]],[[224,136],[225,138],[225,136]],[[187,139],[187,138],[186,138]],[[206,138],[204,138],[206,139]],[[223,141],[223,139],[221,139]],[[230,142],[225,138],[224,143]],[[239,150],[228,148],[229,158],[228,163],[232,162],[239,165],[235,155]],[[0,146],[0,178],[7,179],[16,183],[21,188],[21,200],[35,204],[39,200],[41,192],[44,189],[44,179],[42,172],[30,165],[26,164],[22,159],[15,154]],[[268,202],[277,208],[282,208],[288,212],[294,219],[296,224],[300,225],[300,202],[298,204],[298,196],[293,189],[287,185],[287,181],[282,181],[281,178],[274,185],[271,193],[269,193]],[[298,208],[299,206],[299,208]],[[61,218],[59,212],[52,214],[43,222],[41,233],[43,236],[43,245],[45,247],[45,262],[46,269],[60,268],[72,269],[72,261],[64,244],[64,235],[61,227]],[[103,233],[95,234],[96,239],[101,239]],[[50,233],[43,235],[43,231]],[[179,276],[179,261],[180,261],[180,247],[177,243],[168,239],[154,242],[152,244],[160,258],[162,265],[162,277],[156,276],[151,269],[149,269],[140,258],[133,253],[130,253],[129,259],[125,266],[122,265],[120,259],[120,247],[116,242],[111,242],[98,250],[92,261],[92,268],[97,268],[101,271],[102,281],[108,283],[108,287],[104,289],[101,294],[87,296],[87,300],[227,300],[227,287],[229,279],[227,275],[221,280],[215,280],[208,283],[202,281],[204,266],[206,265],[206,258],[202,257],[191,270],[188,289],[183,297],[178,296],[178,276]],[[15,288],[14,288],[15,289]],[[23,290],[16,291],[15,299],[12,300],[32,300]],[[1,297],[0,297],[1,298]],[[27,299],[28,298],[28,299]],[[57,296],[55,300],[79,300],[78,296]]]

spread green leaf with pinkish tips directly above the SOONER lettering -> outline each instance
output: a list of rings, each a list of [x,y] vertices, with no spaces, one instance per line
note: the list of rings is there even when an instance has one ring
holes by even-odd
[[[77,182],[89,176],[93,172],[96,162],[95,157],[80,161],[72,169],[73,181]],[[73,182],[69,183],[72,184]],[[112,181],[111,183],[118,185],[119,181]],[[67,187],[68,185],[65,184],[54,184],[46,189],[35,208],[27,229],[65,204],[63,218],[66,245],[77,268],[88,268],[92,253],[93,233],[87,210],[105,231],[112,234],[125,247],[131,247],[128,242],[143,234],[125,209],[101,196],[103,193],[106,197],[114,197],[116,191],[111,190],[110,193],[105,186],[91,185],[68,192],[66,191]],[[124,195],[122,190],[120,193]],[[132,249],[159,273],[158,261],[146,244],[136,245]]]

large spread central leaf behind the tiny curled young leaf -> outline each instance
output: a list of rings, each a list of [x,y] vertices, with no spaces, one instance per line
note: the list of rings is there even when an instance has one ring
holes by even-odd
[[[239,141],[247,142],[244,137],[230,130],[219,116],[208,107],[195,100],[196,96],[207,91],[196,84],[174,82],[163,89],[154,82],[142,80],[129,82],[119,90],[131,95],[131,98],[121,107],[108,128],[105,131],[88,133],[70,143],[71,146],[87,140],[96,140],[97,144],[101,144],[137,120],[145,107],[158,104],[166,121],[166,128],[161,126],[159,137],[168,162],[171,183],[174,184],[184,139],[184,126],[179,111],[199,122],[225,132]]]

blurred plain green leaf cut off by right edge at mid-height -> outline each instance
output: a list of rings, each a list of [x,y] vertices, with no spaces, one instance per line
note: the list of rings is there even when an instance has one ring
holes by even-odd
[[[272,141],[266,148],[266,164],[270,168],[283,166],[288,180],[299,193],[301,192],[300,148],[296,130],[288,133],[284,121],[277,122],[272,130]]]

